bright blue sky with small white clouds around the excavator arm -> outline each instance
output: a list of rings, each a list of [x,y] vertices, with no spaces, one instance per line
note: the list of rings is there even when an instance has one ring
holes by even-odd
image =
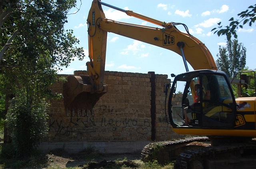
[[[237,14],[246,10],[248,6],[254,5],[254,0],[102,0],[107,4],[132,10],[136,13],[160,20],[163,22],[181,22],[188,26],[190,34],[201,40],[212,53],[214,60],[217,60],[219,46],[225,46],[226,36],[218,37],[211,32],[212,28],[217,27],[218,22],[222,25],[229,24],[228,20],[232,17],[238,18]],[[78,0],[77,5],[81,2]],[[79,46],[84,47],[86,58],[83,61],[75,60],[68,68],[63,68],[58,74],[73,74],[75,70],[86,70],[88,58],[88,36],[86,19],[92,0],[82,0],[80,10],[72,9],[68,16],[66,29],[74,30],[74,35],[80,40]],[[128,22],[131,24],[146,25],[158,27],[154,24],[127,16],[125,13],[116,11],[107,6],[102,6],[105,16],[108,19]],[[180,31],[185,32],[182,26],[177,27]],[[244,26],[239,29],[238,42],[246,48],[246,66],[249,69],[255,69],[255,48],[256,32],[255,24]],[[186,72],[182,57],[178,54],[152,46],[140,41],[129,39],[113,33],[108,33],[107,50],[106,50],[106,67],[107,71],[118,72],[136,72],[156,74],[180,74]],[[193,70],[189,66],[189,70]]]

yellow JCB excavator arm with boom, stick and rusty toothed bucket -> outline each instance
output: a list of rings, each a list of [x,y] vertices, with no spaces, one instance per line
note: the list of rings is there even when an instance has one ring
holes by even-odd
[[[142,26],[124,22],[117,22],[107,19],[102,10],[102,5],[125,12],[129,16],[139,18],[141,20],[151,22],[162,28]],[[68,109],[79,107],[76,102],[83,99],[82,109],[92,107],[98,99],[106,93],[107,85],[103,84],[105,59],[106,59],[106,42],[107,32],[112,32],[139,40],[154,46],[159,46],[176,52],[182,56],[186,71],[188,72],[188,62],[194,70],[210,69],[217,70],[212,54],[208,48],[197,38],[189,34],[187,27],[182,24],[187,33],[183,33],[176,28],[179,23],[166,23],[141,14],[137,14],[130,10],[123,10],[100,0],[93,0],[90,12],[88,14],[88,41],[89,41],[89,58],[90,62],[86,63],[88,76],[68,77],[68,82],[64,84],[64,104]],[[170,56],[171,57],[171,56]],[[88,95],[88,97],[77,97],[77,95]],[[97,95],[96,97],[94,97]],[[66,97],[66,98],[65,98]],[[79,99],[79,101],[78,101]],[[88,103],[88,101],[90,101]],[[75,103],[75,104],[74,104]],[[72,106],[70,106],[72,105]]]

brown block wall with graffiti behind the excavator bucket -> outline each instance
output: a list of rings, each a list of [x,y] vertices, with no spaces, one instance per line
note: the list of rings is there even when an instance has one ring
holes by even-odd
[[[74,75],[86,73],[75,71]],[[44,141],[164,141],[180,137],[165,119],[163,86],[170,82],[167,75],[106,71],[104,81],[108,92],[92,112],[66,112],[63,99],[52,100],[50,131]],[[61,93],[62,86],[56,82],[52,91]]]

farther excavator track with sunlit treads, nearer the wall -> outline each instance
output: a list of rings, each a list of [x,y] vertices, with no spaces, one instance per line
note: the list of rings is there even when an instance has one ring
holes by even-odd
[[[146,145],[141,153],[142,161],[154,161],[157,160],[160,164],[165,164],[170,161],[176,160],[181,152],[188,149],[198,149],[200,147],[208,146],[209,144],[193,144],[192,142],[208,142],[208,137],[189,137],[186,139],[180,139],[176,141],[162,141],[157,143],[149,143]]]

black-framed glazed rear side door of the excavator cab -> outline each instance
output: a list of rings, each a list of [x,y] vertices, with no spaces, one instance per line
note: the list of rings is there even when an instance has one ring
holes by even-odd
[[[205,73],[200,82],[202,127],[234,127],[236,108],[229,81],[222,74]]]

